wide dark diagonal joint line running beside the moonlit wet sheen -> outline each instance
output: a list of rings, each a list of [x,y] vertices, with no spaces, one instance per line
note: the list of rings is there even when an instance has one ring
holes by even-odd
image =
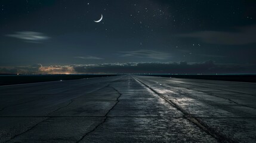
[[[181,113],[184,114],[184,117],[189,120],[190,122],[194,123],[196,126],[198,126],[200,129],[202,129],[203,131],[205,131],[206,133],[208,133],[208,135],[211,135],[213,138],[217,139],[217,141],[219,142],[237,142],[237,141],[233,141],[233,139],[228,138],[226,135],[223,135],[220,132],[217,132],[217,130],[210,128],[208,125],[206,125],[205,123],[202,122],[202,120],[192,116],[192,114],[188,113],[186,110],[184,110],[183,108],[181,108],[179,105],[175,104],[175,102],[169,100],[168,98],[164,97],[163,95],[159,94],[157,91],[155,91],[155,89],[150,88],[150,86],[146,85],[145,83],[141,82],[140,80],[138,80],[136,77],[133,77],[135,80],[137,80],[139,83],[141,83],[142,85],[146,86],[147,88],[149,88],[151,91],[153,91],[156,95],[158,95],[159,97],[161,97],[162,99],[164,99],[166,102],[168,102],[170,105],[172,105],[172,107],[177,108],[177,110],[181,111]]]

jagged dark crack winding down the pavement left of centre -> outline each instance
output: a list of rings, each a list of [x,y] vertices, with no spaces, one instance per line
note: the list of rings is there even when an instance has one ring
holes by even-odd
[[[76,143],[81,142],[87,135],[89,135],[90,133],[94,132],[100,125],[102,125],[103,123],[105,123],[106,120],[107,120],[108,117],[109,117],[109,116],[107,116],[107,115],[110,113],[111,110],[113,110],[113,108],[116,106],[116,104],[118,104],[119,98],[121,97],[122,94],[121,94],[116,88],[114,88],[113,86],[109,86],[109,87],[113,88],[113,89],[114,89],[116,92],[118,92],[118,94],[119,94],[118,98],[116,98],[116,103],[115,103],[115,104],[107,111],[107,113],[104,115],[104,120],[103,120],[103,122],[101,122],[101,123],[99,123],[97,126],[95,126],[90,132],[85,133],[85,135],[82,136],[81,139],[79,139],[78,141],[76,141]]]

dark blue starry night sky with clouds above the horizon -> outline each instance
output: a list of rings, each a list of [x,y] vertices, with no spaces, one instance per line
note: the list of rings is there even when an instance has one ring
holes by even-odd
[[[0,6],[0,73],[256,73],[254,0]]]

